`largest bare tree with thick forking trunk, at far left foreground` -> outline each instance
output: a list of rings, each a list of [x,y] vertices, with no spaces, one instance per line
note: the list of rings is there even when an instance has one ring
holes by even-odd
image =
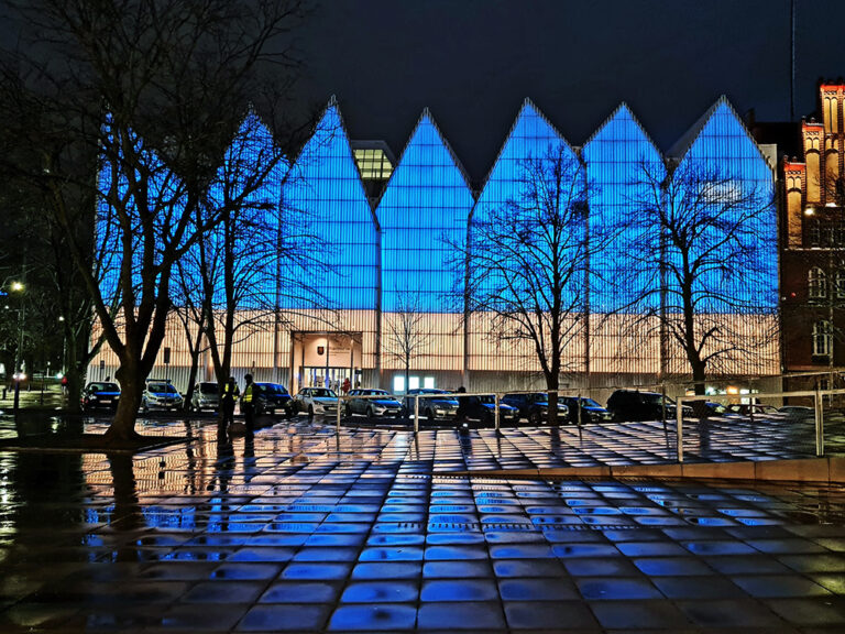
[[[241,192],[195,225],[248,99],[262,94],[265,62],[279,74],[290,62],[283,36],[299,11],[297,0],[15,6],[22,40],[3,55],[4,132],[32,147],[26,176],[51,194],[48,211],[68,236],[85,209],[69,206],[64,194],[68,186],[90,190],[94,182],[98,239],[113,245],[102,285],[85,244],[68,244],[120,362],[122,397],[110,441],[138,436],[143,383],[172,309],[175,263],[250,195]],[[114,297],[117,318],[109,309]]]

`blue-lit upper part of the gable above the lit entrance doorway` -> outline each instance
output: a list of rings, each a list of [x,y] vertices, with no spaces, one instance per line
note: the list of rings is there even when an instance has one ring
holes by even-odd
[[[325,245],[330,270],[296,266],[282,271],[326,296],[329,306],[374,309],[378,280],[378,250],[373,214],[355,166],[337,105],[327,108],[284,185],[284,205],[304,214],[308,226]],[[283,231],[283,240],[289,237]],[[316,263],[315,263],[316,264]],[[289,298],[289,308],[314,307],[305,298]]]

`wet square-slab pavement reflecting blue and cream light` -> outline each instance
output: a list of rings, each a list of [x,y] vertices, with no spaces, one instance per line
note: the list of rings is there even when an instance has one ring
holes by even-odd
[[[579,452],[548,429],[141,429],[194,440],[0,452],[0,632],[845,630],[843,488],[457,474],[665,460],[627,442],[645,425]]]

